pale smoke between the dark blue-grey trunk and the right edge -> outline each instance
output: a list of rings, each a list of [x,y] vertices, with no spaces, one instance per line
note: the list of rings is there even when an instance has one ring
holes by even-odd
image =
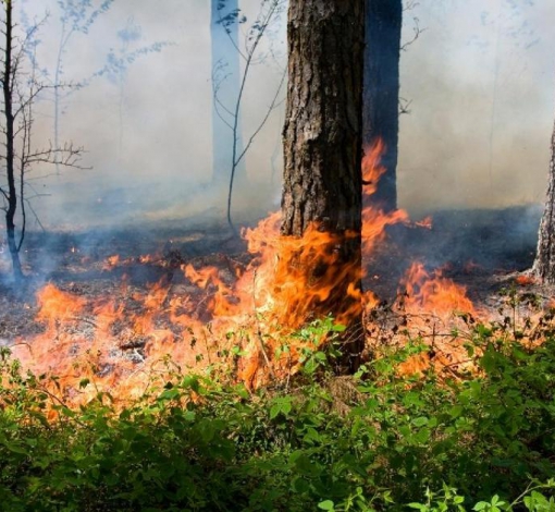
[[[548,0],[422,0],[424,28],[402,56],[399,202],[412,211],[542,203],[555,34]]]

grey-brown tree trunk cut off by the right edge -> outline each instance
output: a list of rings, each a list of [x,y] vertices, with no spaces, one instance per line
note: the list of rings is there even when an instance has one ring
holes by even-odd
[[[550,185],[540,223],[538,253],[532,272],[547,284],[555,284],[555,126],[551,138]]]

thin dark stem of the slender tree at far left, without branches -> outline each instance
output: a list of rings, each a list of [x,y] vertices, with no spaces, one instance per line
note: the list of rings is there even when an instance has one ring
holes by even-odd
[[[13,114],[13,73],[12,69],[12,45],[13,45],[13,20],[12,20],[12,2],[11,0],[4,1],[5,12],[5,27],[4,27],[4,65],[2,76],[2,93],[3,93],[3,115],[5,122],[5,174],[8,180],[8,194],[7,202],[8,208],[5,209],[5,231],[8,235],[8,247],[12,257],[13,273],[16,279],[23,277],[20,251],[15,242],[15,211],[17,210],[17,192],[15,190],[15,153],[14,153],[14,114]]]

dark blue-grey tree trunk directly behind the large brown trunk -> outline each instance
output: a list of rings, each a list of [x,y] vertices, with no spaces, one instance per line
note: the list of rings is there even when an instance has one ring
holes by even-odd
[[[370,200],[386,211],[397,208],[397,146],[399,132],[399,57],[402,0],[366,0],[365,89],[362,144],[381,139],[385,173]]]

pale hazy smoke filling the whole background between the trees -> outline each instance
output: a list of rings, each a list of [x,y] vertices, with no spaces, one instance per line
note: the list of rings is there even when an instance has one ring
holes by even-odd
[[[92,2],[95,3],[95,2]],[[100,1],[96,2],[100,4]],[[240,4],[255,20],[259,0]],[[48,19],[37,46],[50,78],[61,37],[55,0],[20,0]],[[541,203],[555,95],[552,0],[419,0],[405,11],[400,96],[399,205],[412,212]],[[418,19],[418,21],[415,21]],[[126,37],[125,37],[126,35]],[[161,44],[160,51],[150,51]],[[242,110],[246,138],[263,118],[285,65],[285,21],[274,26],[273,62],[257,63]],[[140,50],[145,51],[140,51]],[[95,76],[110,53],[138,52],[120,73]],[[115,0],[63,58],[61,141],[83,145],[84,167],[35,169],[35,209],[51,229],[187,216],[223,216],[227,183],[212,176],[209,0]],[[53,138],[52,98],[36,105],[35,145]],[[247,155],[238,209],[272,210],[281,192],[284,105]],[[256,191],[256,194],[252,193]],[[46,194],[42,196],[42,194]]]

